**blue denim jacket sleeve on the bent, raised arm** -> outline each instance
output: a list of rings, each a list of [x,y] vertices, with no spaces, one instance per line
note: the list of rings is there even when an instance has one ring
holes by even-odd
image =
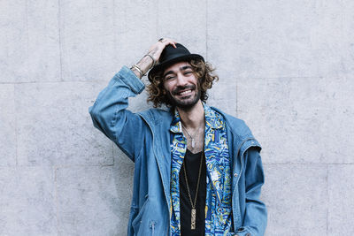
[[[139,115],[127,110],[128,97],[140,94],[144,88],[142,80],[123,66],[89,108],[94,126],[133,161],[142,148],[146,125]]]

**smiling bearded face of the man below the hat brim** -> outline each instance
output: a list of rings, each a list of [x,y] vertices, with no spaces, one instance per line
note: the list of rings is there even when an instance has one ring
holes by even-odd
[[[192,108],[200,99],[201,91],[192,66],[188,62],[173,64],[163,73],[164,88],[173,106]]]

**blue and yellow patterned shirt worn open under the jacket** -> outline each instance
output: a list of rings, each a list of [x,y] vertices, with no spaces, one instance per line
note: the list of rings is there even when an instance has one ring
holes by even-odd
[[[206,163],[205,235],[231,235],[232,178],[231,158],[228,154],[227,130],[222,116],[204,104]],[[179,174],[187,150],[182,133],[181,118],[174,110],[171,132],[171,235],[181,235]]]

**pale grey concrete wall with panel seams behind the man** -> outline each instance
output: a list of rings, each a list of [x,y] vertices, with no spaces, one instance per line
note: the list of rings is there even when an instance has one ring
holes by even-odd
[[[88,108],[161,36],[263,144],[266,235],[353,235],[350,0],[1,1],[0,235],[126,234],[134,165]]]

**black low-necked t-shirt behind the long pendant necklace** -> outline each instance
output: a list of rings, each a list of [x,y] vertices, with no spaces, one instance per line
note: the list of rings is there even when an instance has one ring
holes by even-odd
[[[180,171],[180,212],[181,212],[181,236],[201,236],[204,235],[205,228],[205,198],[206,198],[206,166],[203,158],[202,171],[199,181],[198,195],[196,199],[196,229],[190,228],[190,212],[192,205],[189,200],[186,180],[183,168],[186,167],[187,178],[189,182],[189,191],[192,201],[196,196],[196,184],[198,172],[203,152],[193,154],[187,149],[184,156],[184,163]]]

